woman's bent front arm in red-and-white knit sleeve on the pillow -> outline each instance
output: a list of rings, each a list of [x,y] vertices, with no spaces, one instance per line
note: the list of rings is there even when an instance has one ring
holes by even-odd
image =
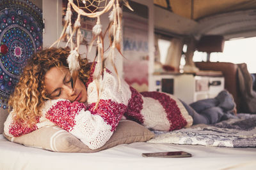
[[[92,113],[83,103],[51,100],[45,103],[44,110],[45,118],[76,136],[91,149],[103,146],[113,134],[114,124],[106,122],[110,119],[108,114]]]

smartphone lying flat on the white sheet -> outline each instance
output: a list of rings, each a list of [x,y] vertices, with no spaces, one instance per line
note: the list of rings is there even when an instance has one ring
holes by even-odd
[[[141,155],[143,157],[172,157],[172,158],[192,157],[191,153],[183,152],[183,151],[142,153]]]

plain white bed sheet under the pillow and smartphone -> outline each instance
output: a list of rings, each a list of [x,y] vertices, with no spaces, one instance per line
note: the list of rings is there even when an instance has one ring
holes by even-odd
[[[188,158],[149,158],[145,152],[186,151]],[[0,135],[0,169],[255,169],[256,148],[132,143],[98,153],[56,153],[7,141]]]

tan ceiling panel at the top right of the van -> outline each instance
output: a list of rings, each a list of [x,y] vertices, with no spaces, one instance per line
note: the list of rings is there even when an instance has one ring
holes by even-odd
[[[192,20],[230,11],[256,9],[255,0],[154,0],[154,4]]]

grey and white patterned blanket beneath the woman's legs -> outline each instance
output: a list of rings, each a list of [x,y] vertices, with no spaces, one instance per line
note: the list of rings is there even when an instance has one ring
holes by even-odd
[[[256,147],[256,115],[239,113],[214,125],[194,125],[172,132],[154,131],[156,136],[148,143],[204,145],[220,147]]]

